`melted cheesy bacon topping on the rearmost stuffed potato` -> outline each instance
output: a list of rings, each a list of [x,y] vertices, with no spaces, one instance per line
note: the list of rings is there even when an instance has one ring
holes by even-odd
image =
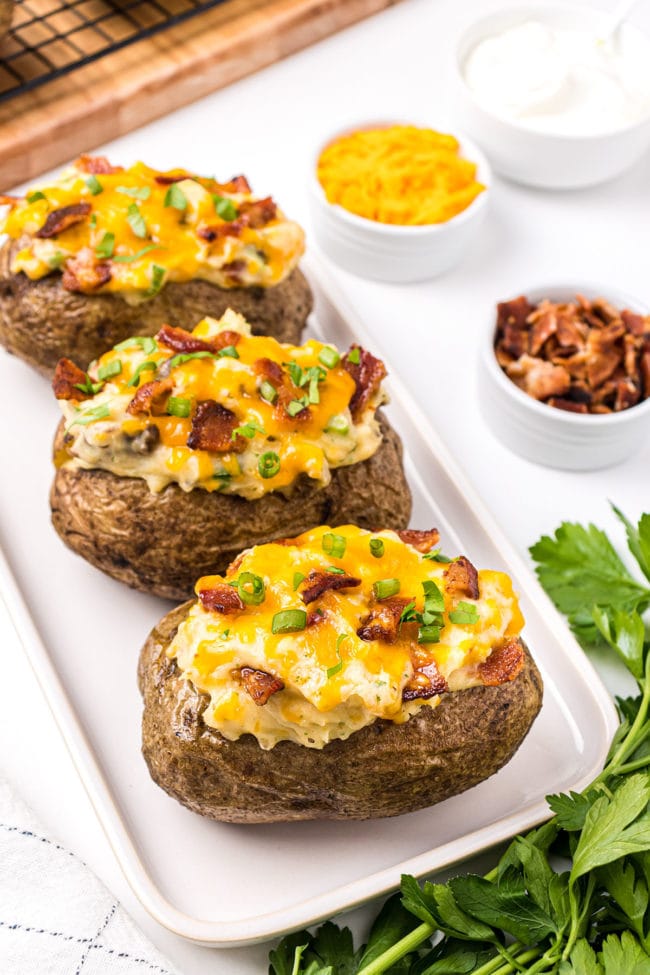
[[[38,279],[62,271],[68,290],[115,292],[131,302],[171,281],[268,287],[304,251],[298,224],[254,196],[243,177],[222,184],[140,162],[93,173],[87,157],[14,201],[0,230],[24,242],[13,273]]]

